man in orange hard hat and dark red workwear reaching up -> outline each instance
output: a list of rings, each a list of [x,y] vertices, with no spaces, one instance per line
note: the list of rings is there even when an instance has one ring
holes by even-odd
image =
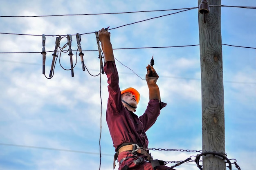
[[[138,117],[135,115],[140,95],[134,88],[119,88],[119,77],[115,65],[110,33],[102,28],[99,40],[105,57],[104,71],[108,77],[108,106],[106,120],[115,147],[119,170],[167,170],[153,160],[147,151],[138,149],[148,147],[146,131],[155,123],[160,109],[166,106],[161,102],[159,88],[156,84],[158,75],[150,65],[146,66],[146,82],[149,89],[149,102],[146,111]],[[149,76],[150,75],[150,76]],[[114,161],[115,168],[115,161]]]

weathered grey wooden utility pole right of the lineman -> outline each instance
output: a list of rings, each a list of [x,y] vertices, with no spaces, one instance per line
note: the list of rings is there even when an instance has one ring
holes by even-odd
[[[216,7],[221,5],[221,0],[198,0],[198,5],[203,1],[208,1],[210,7],[208,14],[204,15],[204,11],[198,14],[202,81],[202,150],[225,153],[221,7]],[[225,161],[218,156],[203,156],[202,164],[203,170],[226,170]]]

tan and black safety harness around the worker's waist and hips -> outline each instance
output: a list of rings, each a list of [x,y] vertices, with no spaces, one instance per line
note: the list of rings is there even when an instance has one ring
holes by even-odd
[[[116,166],[115,161],[117,160],[118,155],[121,152],[125,152],[125,151],[146,155],[147,156],[147,160],[151,163],[151,165],[152,165],[154,170],[157,168],[157,166],[164,165],[164,161],[161,161],[161,160],[158,160],[158,159],[153,159],[153,157],[151,157],[151,155],[148,154],[148,152],[146,150],[139,149],[139,148],[140,147],[139,147],[138,144],[131,144],[131,143],[124,143],[124,144],[122,144],[121,147],[119,147],[119,149],[115,153],[113,169],[115,169],[115,166]],[[121,161],[124,161],[127,158],[130,158],[130,157],[126,157],[124,159],[121,159]],[[127,169],[128,169],[128,167],[124,167],[122,170],[127,170]]]

